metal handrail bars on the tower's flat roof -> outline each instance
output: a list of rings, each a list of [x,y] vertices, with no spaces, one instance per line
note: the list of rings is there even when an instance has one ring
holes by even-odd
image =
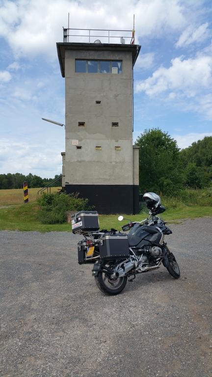
[[[69,30],[87,30],[88,34],[69,34]],[[92,35],[91,31],[107,31],[108,35]],[[131,32],[131,36],[127,35],[111,35],[110,32]],[[128,38],[132,40],[135,40],[135,31],[134,30],[115,30],[115,29],[78,29],[78,28],[72,28],[72,27],[63,27],[63,42],[69,42],[69,37],[87,37],[89,38],[89,43],[91,37],[93,38],[108,38],[108,43],[110,43],[110,38]]]

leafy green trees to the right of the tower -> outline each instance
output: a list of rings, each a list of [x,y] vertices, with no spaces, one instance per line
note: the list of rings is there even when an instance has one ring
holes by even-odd
[[[160,129],[145,130],[139,145],[139,186],[141,193],[153,191],[174,195],[182,188],[212,185],[212,136],[180,150],[177,141]]]

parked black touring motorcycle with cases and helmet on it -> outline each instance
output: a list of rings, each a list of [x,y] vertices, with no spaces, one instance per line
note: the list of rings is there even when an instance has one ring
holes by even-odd
[[[161,264],[175,278],[180,277],[176,258],[165,242],[165,235],[172,234],[157,215],[165,211],[159,195],[147,192],[143,195],[149,217],[131,221],[116,229],[99,231],[98,213],[81,211],[72,219],[73,233],[84,236],[78,242],[78,263],[93,263],[92,275],[98,288],[107,295],[123,291],[127,279],[132,281],[138,273],[153,271]],[[120,215],[119,221],[124,220]],[[128,232],[127,234],[125,232]]]

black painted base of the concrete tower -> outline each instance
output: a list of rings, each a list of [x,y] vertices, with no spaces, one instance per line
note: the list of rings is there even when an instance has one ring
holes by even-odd
[[[136,214],[139,189],[135,185],[65,185],[68,193],[79,192],[100,214]]]

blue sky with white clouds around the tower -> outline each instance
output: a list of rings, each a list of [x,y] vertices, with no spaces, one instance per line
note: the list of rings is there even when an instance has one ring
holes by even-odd
[[[0,0],[0,173],[61,172],[62,27],[132,29],[134,138],[159,127],[184,148],[212,135],[212,1]]]

